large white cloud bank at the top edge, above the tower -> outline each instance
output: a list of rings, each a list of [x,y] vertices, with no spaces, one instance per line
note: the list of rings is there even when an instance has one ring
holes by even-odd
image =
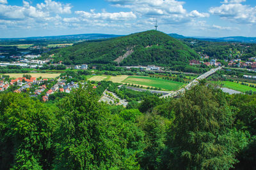
[[[181,24],[193,18],[209,17],[209,13],[191,12],[184,9],[183,1],[177,0],[107,0],[113,6],[129,8],[138,17],[159,18],[165,24]]]

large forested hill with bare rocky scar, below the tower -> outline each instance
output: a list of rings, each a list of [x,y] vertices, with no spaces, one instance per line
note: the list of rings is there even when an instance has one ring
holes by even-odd
[[[64,64],[108,64],[121,66],[188,64],[199,55],[181,41],[159,31],[145,31],[115,39],[84,41],[52,50],[54,61]]]

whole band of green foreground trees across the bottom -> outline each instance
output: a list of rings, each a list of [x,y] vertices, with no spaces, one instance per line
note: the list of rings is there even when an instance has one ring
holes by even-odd
[[[256,96],[204,81],[108,106],[89,84],[56,104],[0,94],[1,169],[255,169]]]

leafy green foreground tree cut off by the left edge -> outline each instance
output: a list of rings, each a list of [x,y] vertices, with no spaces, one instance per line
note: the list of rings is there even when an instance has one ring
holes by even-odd
[[[51,169],[56,119],[22,94],[0,94],[0,169]]]

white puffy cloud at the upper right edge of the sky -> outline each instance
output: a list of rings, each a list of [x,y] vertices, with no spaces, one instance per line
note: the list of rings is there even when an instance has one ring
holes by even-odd
[[[218,15],[222,19],[241,24],[255,24],[256,7],[243,4],[222,4],[209,10],[212,15]]]

